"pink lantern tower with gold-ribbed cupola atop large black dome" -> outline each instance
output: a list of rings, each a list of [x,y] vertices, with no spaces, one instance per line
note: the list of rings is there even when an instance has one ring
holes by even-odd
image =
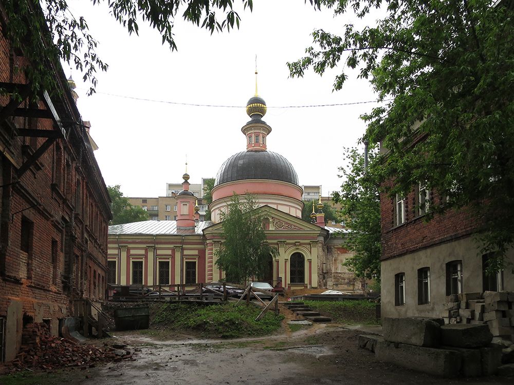
[[[255,70],[255,95],[246,103],[246,113],[251,120],[241,129],[246,137],[248,151],[265,151],[267,148],[266,138],[271,132],[271,127],[262,120],[266,110],[266,102],[257,93],[257,71]]]

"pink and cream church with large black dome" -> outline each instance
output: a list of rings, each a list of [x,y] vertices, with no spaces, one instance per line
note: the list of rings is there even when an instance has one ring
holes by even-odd
[[[313,203],[311,222],[302,220],[303,190],[291,163],[279,153],[268,151],[271,127],[263,121],[266,103],[256,89],[246,112],[250,120],[241,129],[246,148],[219,168],[209,205],[212,221],[199,221],[186,172],[176,196],[175,221],[109,227],[109,283],[187,286],[222,280],[224,272],[215,264],[217,251],[223,247],[221,213],[234,194],[249,192],[258,201],[267,241],[278,251],[270,256],[266,281],[273,286],[280,281],[291,290],[363,290],[364,282],[356,280],[342,265],[351,256],[342,247],[349,230],[326,227],[321,202],[317,202],[316,210]]]

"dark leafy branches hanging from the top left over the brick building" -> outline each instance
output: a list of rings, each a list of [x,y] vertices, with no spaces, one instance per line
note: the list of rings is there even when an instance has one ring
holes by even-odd
[[[162,44],[169,45],[172,51],[177,49],[173,23],[180,15],[183,20],[206,28],[211,34],[238,28],[241,21],[233,9],[233,0],[89,1],[92,5],[106,3],[109,14],[129,34],[138,34],[140,20],[149,24],[160,32]],[[241,2],[243,9],[248,7],[252,10],[252,0]],[[27,59],[22,70],[34,96],[42,90],[52,92],[59,89],[57,80],[45,68],[58,65],[60,60],[80,69],[84,81],[91,83],[89,93],[95,91],[96,72],[107,70],[108,65],[98,56],[97,41],[89,34],[84,17],[75,17],[63,0],[4,0],[0,10],[8,20],[2,27],[3,32],[13,50],[22,51]]]

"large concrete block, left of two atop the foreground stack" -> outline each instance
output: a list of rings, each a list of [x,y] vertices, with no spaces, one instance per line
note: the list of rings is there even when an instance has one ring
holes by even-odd
[[[410,345],[436,347],[440,340],[442,318],[384,318],[384,340]]]

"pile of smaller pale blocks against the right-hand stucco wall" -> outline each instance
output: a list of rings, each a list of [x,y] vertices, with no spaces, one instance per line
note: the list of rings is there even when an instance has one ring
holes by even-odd
[[[514,336],[514,293],[461,293],[446,298],[442,317],[445,323],[487,323],[494,337]]]

